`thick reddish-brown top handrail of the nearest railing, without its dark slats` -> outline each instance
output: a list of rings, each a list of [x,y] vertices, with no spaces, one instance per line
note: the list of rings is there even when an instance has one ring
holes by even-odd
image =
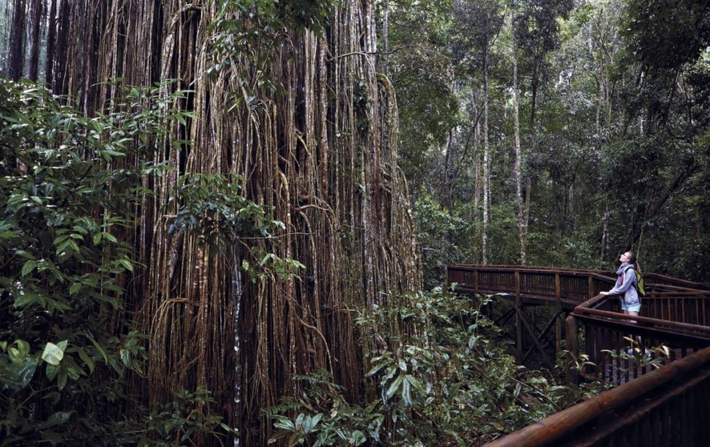
[[[682,378],[679,376],[693,373],[706,366],[710,366],[710,347],[670,363],[663,368],[654,370],[622,386],[602,392],[590,400],[564,409],[562,412],[552,414],[552,416],[542,419],[542,421],[514,431],[486,445],[490,447],[517,447],[541,446],[559,442],[574,436],[574,433],[586,424],[594,424],[600,417],[623,409],[624,406],[640,400],[644,395],[651,395],[676,378],[678,378],[676,380],[677,386],[683,385],[684,380],[681,380]],[[667,388],[664,388],[663,391],[668,392]],[[584,436],[589,437],[589,435],[585,431]]]

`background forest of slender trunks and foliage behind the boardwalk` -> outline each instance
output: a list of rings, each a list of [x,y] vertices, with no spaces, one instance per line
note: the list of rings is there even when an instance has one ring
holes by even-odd
[[[484,261],[484,234],[490,264],[633,249],[707,281],[708,2],[383,3],[428,285]]]

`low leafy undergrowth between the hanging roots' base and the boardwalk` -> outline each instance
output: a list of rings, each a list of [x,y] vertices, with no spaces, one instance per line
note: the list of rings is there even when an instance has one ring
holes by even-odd
[[[326,377],[271,409],[288,445],[468,446],[577,400],[552,376],[518,366],[484,310],[493,298],[440,288],[361,312],[368,399],[345,402]]]

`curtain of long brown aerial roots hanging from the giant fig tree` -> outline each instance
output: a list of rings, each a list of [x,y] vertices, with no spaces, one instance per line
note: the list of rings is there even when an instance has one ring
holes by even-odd
[[[129,282],[128,307],[152,336],[148,375],[134,380],[134,392],[159,402],[204,385],[217,400],[210,411],[239,426],[244,445],[256,445],[271,433],[262,410],[299,392],[295,374],[329,370],[349,400],[361,397],[355,310],[418,288],[419,265],[395,166],[393,92],[366,55],[376,50],[373,2],[342,1],[323,35],[285,30],[290,40],[268,76],[288,93],[257,92],[259,106],[231,112],[227,95],[240,89],[240,67],[200,77],[212,62],[214,3],[48,1],[33,11],[52,17],[44,31],[48,82],[80,95],[89,113],[116,94],[100,84],[114,77],[133,85],[180,78],[194,90],[178,106],[199,119],[156,142],[155,160],[174,170],[146,179],[155,197],[145,198],[131,236],[146,267]],[[178,151],[172,140],[194,145]],[[249,243],[301,261],[300,278],[252,283],[237,269],[243,251],[208,256],[195,238],[168,236],[179,206],[168,201],[170,190],[180,175],[198,172],[244,176],[244,194],[286,225],[278,244]]]

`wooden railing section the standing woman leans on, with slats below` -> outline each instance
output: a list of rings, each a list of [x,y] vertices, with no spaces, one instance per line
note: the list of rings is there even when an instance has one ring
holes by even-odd
[[[587,378],[624,383],[650,372],[650,363],[667,364],[710,346],[709,312],[710,293],[700,291],[652,293],[638,317],[623,315],[618,297],[597,295],[567,317],[570,361],[581,363],[585,354],[592,363],[581,370]],[[575,368],[568,380],[577,382]]]

